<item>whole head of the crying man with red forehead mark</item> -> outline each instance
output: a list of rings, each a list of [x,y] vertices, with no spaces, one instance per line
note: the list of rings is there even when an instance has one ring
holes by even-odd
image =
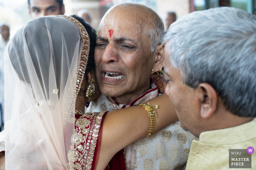
[[[163,34],[162,20],[144,5],[110,8],[101,20],[94,51],[101,92],[130,104],[149,90],[152,69],[162,66]]]

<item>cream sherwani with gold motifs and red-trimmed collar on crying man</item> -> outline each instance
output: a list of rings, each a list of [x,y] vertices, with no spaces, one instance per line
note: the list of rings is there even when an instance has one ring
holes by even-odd
[[[98,100],[90,103],[86,112],[115,110],[145,103],[147,100],[158,96],[157,86],[154,83],[151,83],[151,86],[151,90],[139,96],[129,106],[119,104],[114,98],[106,97],[102,94]],[[179,121],[174,122],[149,138],[141,139],[125,147],[126,168],[127,170],[184,169],[192,139],[197,138],[191,133],[184,131],[180,127]]]

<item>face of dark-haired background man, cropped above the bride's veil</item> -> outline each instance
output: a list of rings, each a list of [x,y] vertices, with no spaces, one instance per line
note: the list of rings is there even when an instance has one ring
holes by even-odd
[[[29,13],[32,19],[40,16],[63,15],[64,5],[60,9],[60,4],[56,0],[30,0]]]

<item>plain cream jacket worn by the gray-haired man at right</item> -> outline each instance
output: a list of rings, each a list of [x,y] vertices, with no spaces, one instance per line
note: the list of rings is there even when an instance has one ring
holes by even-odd
[[[256,149],[256,119],[236,127],[203,132],[199,141],[192,142],[186,170],[227,170],[229,149],[249,146]],[[253,169],[256,169],[255,152],[252,154]]]

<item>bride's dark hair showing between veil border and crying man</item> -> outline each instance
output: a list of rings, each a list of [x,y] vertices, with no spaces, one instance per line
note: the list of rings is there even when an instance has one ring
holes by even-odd
[[[89,23],[84,21],[81,17],[79,17],[77,15],[71,15],[71,16],[74,17],[75,19],[77,19],[81,24],[83,24],[84,28],[86,29],[86,31],[90,37],[90,51],[89,51],[87,66],[86,66],[86,70],[85,70],[85,72],[87,73],[94,69],[94,49],[96,46],[96,37],[97,37],[96,31],[95,31],[95,29],[93,29],[93,27],[91,27],[91,25]]]

